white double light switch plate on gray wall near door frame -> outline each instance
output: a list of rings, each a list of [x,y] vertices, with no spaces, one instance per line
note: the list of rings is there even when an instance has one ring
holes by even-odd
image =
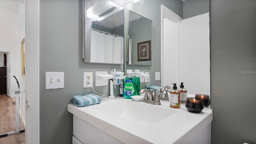
[[[64,72],[45,72],[45,89],[64,88]]]

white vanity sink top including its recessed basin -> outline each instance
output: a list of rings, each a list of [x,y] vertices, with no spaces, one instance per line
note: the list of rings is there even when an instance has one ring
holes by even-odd
[[[188,112],[185,105],[176,109],[170,108],[168,102],[153,105],[121,97],[85,107],[68,104],[68,111],[127,144],[188,144],[205,134],[204,130],[209,129],[212,122],[212,110],[207,108],[196,114]],[[81,133],[80,138],[84,136]]]

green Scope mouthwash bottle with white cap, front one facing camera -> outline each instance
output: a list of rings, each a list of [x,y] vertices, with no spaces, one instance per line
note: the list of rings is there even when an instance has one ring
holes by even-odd
[[[132,70],[127,70],[127,77],[124,79],[124,98],[131,99],[134,95],[133,81]]]

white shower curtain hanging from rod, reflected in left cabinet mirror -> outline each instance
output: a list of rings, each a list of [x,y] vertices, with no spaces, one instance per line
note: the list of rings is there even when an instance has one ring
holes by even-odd
[[[123,64],[124,38],[91,30],[90,62]]]

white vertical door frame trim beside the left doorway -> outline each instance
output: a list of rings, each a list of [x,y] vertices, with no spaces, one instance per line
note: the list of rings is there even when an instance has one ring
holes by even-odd
[[[26,144],[40,143],[40,75],[39,75],[39,0],[25,1],[26,48]]]

